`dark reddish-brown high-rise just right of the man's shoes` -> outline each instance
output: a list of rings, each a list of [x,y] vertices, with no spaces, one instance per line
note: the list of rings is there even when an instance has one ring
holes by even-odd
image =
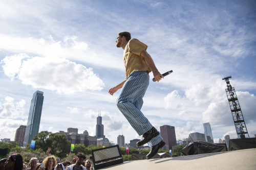
[[[177,145],[174,126],[160,126],[160,135],[163,137],[166,146],[168,146],[164,148],[166,151],[171,150],[173,146]]]

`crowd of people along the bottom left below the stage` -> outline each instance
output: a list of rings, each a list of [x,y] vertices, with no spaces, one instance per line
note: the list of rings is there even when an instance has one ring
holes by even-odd
[[[86,155],[78,153],[72,162],[59,161],[55,156],[49,156],[51,149],[48,149],[47,157],[43,161],[37,158],[31,158],[29,162],[25,162],[22,155],[12,154],[8,158],[0,160],[0,170],[91,170],[94,169],[91,160],[86,160]]]

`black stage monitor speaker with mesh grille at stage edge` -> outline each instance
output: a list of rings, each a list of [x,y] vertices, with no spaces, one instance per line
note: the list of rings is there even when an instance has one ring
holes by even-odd
[[[111,147],[92,150],[92,159],[94,169],[123,163],[122,154],[118,144]]]

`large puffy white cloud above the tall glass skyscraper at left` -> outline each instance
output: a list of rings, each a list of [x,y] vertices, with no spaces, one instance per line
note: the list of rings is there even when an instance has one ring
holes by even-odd
[[[27,60],[20,62],[21,59]],[[15,64],[17,68],[12,63],[18,63]],[[16,77],[23,84],[31,85],[33,88],[73,94],[86,90],[101,90],[104,86],[102,80],[93,73],[92,68],[86,68],[64,58],[29,58],[26,54],[20,54],[5,57],[1,64],[8,77]],[[9,71],[13,67],[15,71]]]

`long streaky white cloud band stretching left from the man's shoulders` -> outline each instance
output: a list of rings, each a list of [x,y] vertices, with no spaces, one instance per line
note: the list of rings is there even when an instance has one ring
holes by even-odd
[[[34,38],[0,34],[0,49],[123,69],[121,59],[115,61],[113,65],[114,57],[112,55],[101,50],[91,50],[88,43],[79,41],[77,36],[65,36],[61,41],[55,40],[51,35],[47,38]],[[17,60],[15,61],[18,63]]]

